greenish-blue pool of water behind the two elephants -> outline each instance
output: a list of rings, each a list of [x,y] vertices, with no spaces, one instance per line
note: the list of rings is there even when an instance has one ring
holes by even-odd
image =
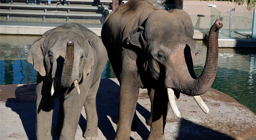
[[[0,35],[0,84],[36,83],[33,65],[27,62],[34,39],[40,36]],[[206,42],[196,41],[199,50],[194,69],[199,76],[204,68]],[[224,92],[256,113],[256,50],[219,49],[218,71],[212,88]],[[110,62],[101,78],[116,78]]]

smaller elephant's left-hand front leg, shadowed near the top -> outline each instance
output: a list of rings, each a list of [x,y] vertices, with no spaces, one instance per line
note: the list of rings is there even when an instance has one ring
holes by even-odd
[[[43,81],[36,85],[36,137],[38,140],[51,140],[52,113],[54,98]]]

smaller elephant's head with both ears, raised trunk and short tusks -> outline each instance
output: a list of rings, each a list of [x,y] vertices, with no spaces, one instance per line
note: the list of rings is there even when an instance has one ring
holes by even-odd
[[[57,84],[66,91],[64,95],[73,86],[80,94],[78,83],[86,78],[94,65],[92,44],[77,28],[57,27],[34,41],[28,62],[52,82],[52,95]]]

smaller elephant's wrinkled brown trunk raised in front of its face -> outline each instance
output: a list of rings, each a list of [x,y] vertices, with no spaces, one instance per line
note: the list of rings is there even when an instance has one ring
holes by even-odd
[[[64,61],[61,80],[60,80],[60,84],[62,88],[69,88],[71,86],[70,80],[72,76],[73,64],[74,64],[74,42],[69,40],[67,43],[66,56],[65,56],[65,61]]]

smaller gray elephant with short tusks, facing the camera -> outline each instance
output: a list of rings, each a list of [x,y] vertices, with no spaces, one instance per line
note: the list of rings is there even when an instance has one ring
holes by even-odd
[[[63,24],[45,32],[34,41],[28,62],[34,65],[36,82],[36,136],[50,140],[54,99],[59,98],[60,110],[55,135],[75,139],[84,106],[86,139],[98,136],[96,93],[101,74],[107,64],[107,51],[100,38],[75,23]]]

